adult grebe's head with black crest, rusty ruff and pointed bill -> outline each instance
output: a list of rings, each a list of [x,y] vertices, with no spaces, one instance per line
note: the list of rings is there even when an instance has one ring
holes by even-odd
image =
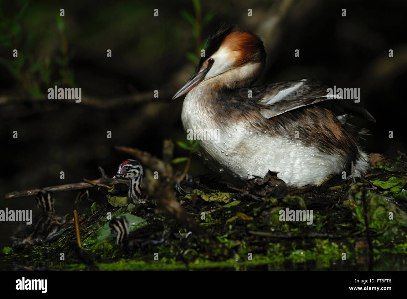
[[[263,41],[235,26],[221,25],[210,35],[205,57],[199,59],[192,77],[175,93],[173,99],[197,85],[208,88],[236,89],[249,87],[260,77],[266,60]]]

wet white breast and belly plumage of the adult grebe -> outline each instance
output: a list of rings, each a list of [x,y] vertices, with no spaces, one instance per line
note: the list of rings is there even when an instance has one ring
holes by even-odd
[[[198,155],[212,170],[224,177],[245,179],[251,175],[264,177],[268,170],[279,172],[278,177],[291,186],[318,183],[330,174],[339,173],[346,165],[339,158],[304,146],[299,139],[271,136],[249,123],[219,126],[212,113],[201,105],[201,88],[191,90],[182,107],[184,130],[216,130],[218,140],[203,136]],[[217,142],[218,141],[218,142]]]

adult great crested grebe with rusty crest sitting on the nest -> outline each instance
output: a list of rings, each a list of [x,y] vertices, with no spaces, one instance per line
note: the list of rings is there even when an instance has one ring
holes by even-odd
[[[316,185],[343,171],[350,175],[352,163],[354,177],[365,174],[368,156],[345,116],[350,111],[375,121],[373,116],[353,102],[328,99],[327,86],[315,79],[251,87],[265,59],[258,36],[222,25],[174,95],[187,93],[184,130],[205,132],[197,152],[204,162],[234,183],[271,170],[293,187]]]

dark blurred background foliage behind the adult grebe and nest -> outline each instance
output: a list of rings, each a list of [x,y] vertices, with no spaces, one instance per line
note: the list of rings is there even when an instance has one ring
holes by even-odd
[[[0,193],[95,179],[98,166],[114,175],[128,158],[114,145],[160,157],[164,139],[185,140],[182,99],[171,97],[195,70],[200,45],[222,20],[264,40],[267,66],[256,85],[310,76],[329,86],[361,88],[360,105],[377,120],[355,118],[372,133],[362,141],[366,151],[391,157],[406,152],[407,2],[197,3],[1,1]],[[61,8],[65,17],[59,17]],[[159,17],[153,16],[156,8]],[[54,85],[82,88],[82,103],[48,100],[47,89]],[[153,98],[154,90],[159,98]],[[176,157],[184,155],[176,149]],[[194,158],[190,173],[206,172]],[[72,212],[76,196],[57,193],[57,210]],[[105,201],[101,192],[91,196]],[[0,203],[2,209],[35,210],[32,197]],[[9,243],[14,226],[2,224],[0,247]]]

